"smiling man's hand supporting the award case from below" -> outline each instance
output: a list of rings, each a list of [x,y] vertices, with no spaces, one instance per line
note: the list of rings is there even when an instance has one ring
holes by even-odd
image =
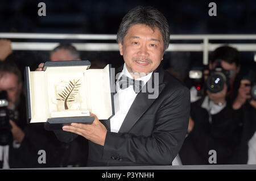
[[[104,146],[107,130],[96,115],[90,113],[90,116],[95,117],[92,124],[71,123],[71,125],[65,125],[62,129],[63,131],[79,134],[98,145]]]

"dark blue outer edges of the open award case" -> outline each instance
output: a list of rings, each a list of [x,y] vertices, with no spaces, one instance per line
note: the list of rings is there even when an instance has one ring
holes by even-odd
[[[44,63],[43,71],[47,69],[47,67],[57,67],[57,66],[84,66],[88,65],[88,69],[90,67],[90,61],[81,60],[81,61],[48,61]],[[112,73],[111,73],[111,64],[109,65],[110,72],[110,87],[113,87]],[[29,76],[28,76],[28,67],[25,68],[25,85],[26,85],[26,108],[27,108],[27,123],[31,121],[31,105],[30,105],[30,84],[29,84]],[[112,99],[112,113],[114,115],[114,93],[111,89],[111,99]],[[113,116],[112,115],[112,116]],[[111,117],[112,117],[111,116]],[[94,121],[94,116],[83,116],[83,117],[55,117],[48,118],[47,122],[44,124],[44,128],[48,131],[53,131],[57,129],[62,129],[63,125],[69,125],[71,123],[84,123],[84,124],[92,124]]]

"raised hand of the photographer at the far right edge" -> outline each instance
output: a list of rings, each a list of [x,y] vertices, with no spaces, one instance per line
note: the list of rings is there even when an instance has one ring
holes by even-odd
[[[243,104],[245,104],[246,99],[250,99],[250,89],[251,86],[246,86],[246,84],[250,84],[249,80],[243,79],[241,80],[240,87],[238,89],[237,98],[233,102],[233,109],[239,110]]]

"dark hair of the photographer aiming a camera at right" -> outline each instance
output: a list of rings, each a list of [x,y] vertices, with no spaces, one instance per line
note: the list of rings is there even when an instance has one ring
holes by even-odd
[[[218,47],[213,51],[210,61],[215,62],[216,60],[223,60],[229,64],[236,63],[237,66],[240,65],[238,50],[228,45]]]

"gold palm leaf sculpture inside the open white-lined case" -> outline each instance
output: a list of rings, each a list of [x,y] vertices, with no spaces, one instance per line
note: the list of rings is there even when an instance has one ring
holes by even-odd
[[[77,92],[79,91],[79,87],[81,86],[81,83],[77,83],[79,82],[79,80],[75,81],[75,79],[73,79],[73,82],[69,81],[68,86],[65,86],[65,89],[62,92],[58,93],[60,98],[57,100],[64,101],[65,110],[68,110],[67,102],[75,101],[75,97],[77,95]]]

